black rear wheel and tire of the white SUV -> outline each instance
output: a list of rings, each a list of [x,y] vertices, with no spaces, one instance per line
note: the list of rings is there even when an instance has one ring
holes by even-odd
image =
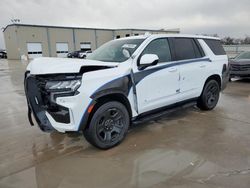
[[[220,86],[216,80],[206,82],[201,96],[197,101],[197,106],[201,110],[212,110],[216,107],[220,97]]]

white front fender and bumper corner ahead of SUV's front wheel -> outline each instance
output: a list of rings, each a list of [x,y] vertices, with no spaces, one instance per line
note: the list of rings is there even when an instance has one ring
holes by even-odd
[[[114,70],[115,69],[115,70]],[[82,77],[82,85],[78,89],[80,92],[73,97],[59,97],[57,98],[57,104],[65,106],[71,111],[71,119],[73,121],[69,125],[58,124],[54,121],[54,128],[60,132],[65,131],[77,131],[83,114],[87,110],[92,99],[90,96],[101,86],[107,82],[113,80],[113,78],[123,77],[129,74],[129,69],[124,70],[123,67],[111,68],[107,70],[99,70],[88,72]],[[52,118],[52,117],[51,117]]]

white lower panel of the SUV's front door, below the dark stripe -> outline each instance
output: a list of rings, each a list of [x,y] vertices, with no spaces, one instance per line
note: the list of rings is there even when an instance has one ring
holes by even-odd
[[[168,63],[161,63],[158,66],[164,64]],[[150,68],[147,70],[150,70]],[[138,70],[134,72],[136,74]],[[136,85],[136,90],[139,113],[177,102],[177,91],[179,90],[178,66],[165,68],[146,76]]]

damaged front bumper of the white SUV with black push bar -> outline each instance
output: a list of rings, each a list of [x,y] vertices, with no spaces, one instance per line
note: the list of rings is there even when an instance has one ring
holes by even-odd
[[[28,118],[31,125],[32,114],[44,132],[57,130],[59,132],[77,131],[80,123],[78,112],[79,92],[53,92],[46,89],[48,80],[57,79],[58,76],[44,77],[25,74],[25,93],[28,103]],[[59,102],[58,102],[59,99]],[[63,100],[62,100],[63,99]],[[63,102],[60,102],[63,101]],[[70,102],[69,102],[70,101]],[[81,113],[81,110],[80,110]]]

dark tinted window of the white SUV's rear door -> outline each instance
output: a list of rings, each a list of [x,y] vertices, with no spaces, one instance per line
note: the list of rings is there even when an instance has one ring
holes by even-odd
[[[194,39],[174,38],[175,60],[195,59],[203,57]]]

